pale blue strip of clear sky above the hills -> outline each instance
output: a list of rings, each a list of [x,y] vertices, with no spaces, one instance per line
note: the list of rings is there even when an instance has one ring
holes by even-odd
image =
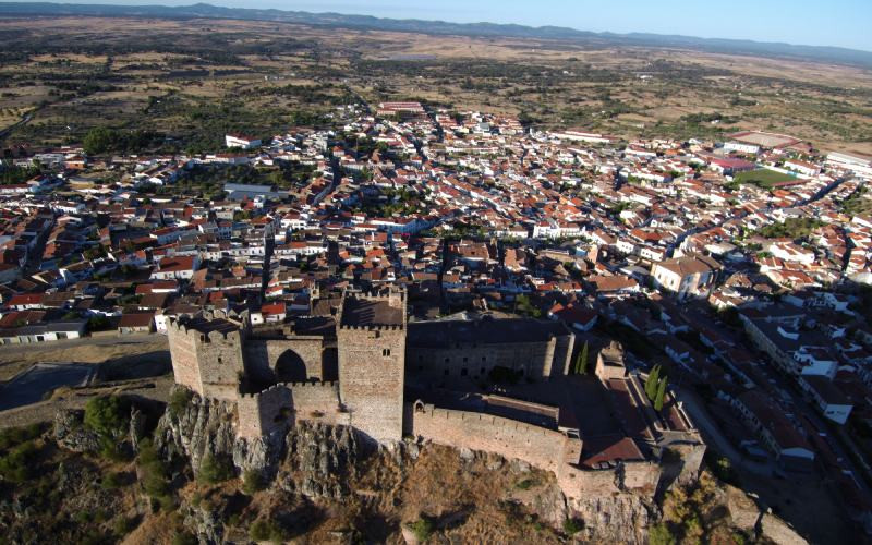
[[[197,0],[75,0],[161,3]],[[872,0],[201,0],[234,8],[336,11],[460,23],[558,25],[594,32],[647,32],[746,38],[872,51]]]

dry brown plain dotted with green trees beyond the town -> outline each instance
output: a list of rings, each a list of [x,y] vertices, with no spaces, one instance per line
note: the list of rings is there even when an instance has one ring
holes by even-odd
[[[851,66],[215,19],[9,17],[0,38],[7,146],[100,125],[197,153],[227,131],[270,136],[350,101],[414,99],[626,138],[763,130],[872,154],[872,74]]]

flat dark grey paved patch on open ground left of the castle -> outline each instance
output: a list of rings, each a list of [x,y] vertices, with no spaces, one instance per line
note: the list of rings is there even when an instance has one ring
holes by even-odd
[[[95,365],[37,363],[0,387],[0,411],[41,401],[61,386],[86,386]]]

